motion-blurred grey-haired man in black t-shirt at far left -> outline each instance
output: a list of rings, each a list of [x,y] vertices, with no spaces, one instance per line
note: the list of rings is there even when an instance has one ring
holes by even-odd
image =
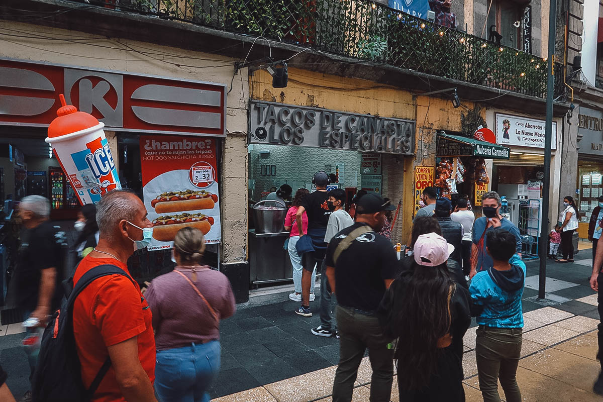
[[[63,297],[63,233],[50,222],[50,202],[30,195],[19,204],[19,218],[25,227],[21,236],[19,262],[16,268],[17,307],[24,319],[37,318],[44,327],[48,318],[60,307]],[[26,336],[35,328],[27,328]],[[25,347],[31,374],[36,368],[37,351]],[[30,377],[31,379],[31,377]]]

